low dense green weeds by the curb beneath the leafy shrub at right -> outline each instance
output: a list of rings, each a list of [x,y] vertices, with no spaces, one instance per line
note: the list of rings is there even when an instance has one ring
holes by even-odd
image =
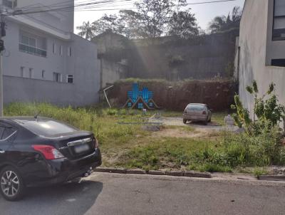
[[[272,164],[285,164],[285,148],[281,145],[279,127],[264,128],[257,136],[247,133],[233,134],[224,132],[222,141],[216,147],[204,147],[204,150],[190,154],[185,160],[190,166],[196,164],[207,171],[228,172],[236,167],[265,167]],[[222,168],[225,168],[222,170]],[[205,170],[206,171],[206,170]]]

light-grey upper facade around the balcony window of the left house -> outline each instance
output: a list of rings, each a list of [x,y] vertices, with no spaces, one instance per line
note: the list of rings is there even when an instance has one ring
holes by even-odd
[[[19,51],[19,31],[24,30],[46,38],[47,56],[34,56]],[[53,54],[53,43],[57,52]],[[61,41],[51,35],[41,33],[36,29],[21,26],[19,23],[7,21],[6,37],[4,37],[6,51],[4,53],[4,75],[21,77],[21,67],[25,70],[33,68],[33,78],[42,79],[41,71],[46,71],[46,80],[53,80],[53,72],[66,74],[67,47],[69,42]],[[63,55],[59,55],[59,46],[63,46]],[[73,70],[70,71],[73,73]]]

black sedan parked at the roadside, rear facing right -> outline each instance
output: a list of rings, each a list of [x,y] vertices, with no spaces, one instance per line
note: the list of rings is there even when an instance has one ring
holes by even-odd
[[[86,177],[100,166],[93,133],[46,117],[0,118],[0,192],[15,201],[26,187]]]

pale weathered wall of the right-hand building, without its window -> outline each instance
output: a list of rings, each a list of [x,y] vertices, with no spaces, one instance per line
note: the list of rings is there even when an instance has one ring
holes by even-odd
[[[257,80],[261,95],[266,93],[269,84],[274,82],[279,102],[285,105],[285,68],[266,65],[266,51],[271,50],[268,46],[266,48],[267,39],[271,39],[267,32],[272,31],[272,28],[268,28],[271,25],[268,22],[273,20],[269,13],[269,1],[272,0],[246,0],[242,14],[239,34],[239,95],[249,110],[253,108],[253,98],[245,88],[252,80]],[[285,46],[285,41],[281,42],[281,45]]]

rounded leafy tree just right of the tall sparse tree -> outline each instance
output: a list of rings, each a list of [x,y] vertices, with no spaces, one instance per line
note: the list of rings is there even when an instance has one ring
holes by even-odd
[[[180,38],[191,38],[199,35],[199,28],[194,14],[190,11],[173,12],[168,24],[170,36],[179,36]]]

